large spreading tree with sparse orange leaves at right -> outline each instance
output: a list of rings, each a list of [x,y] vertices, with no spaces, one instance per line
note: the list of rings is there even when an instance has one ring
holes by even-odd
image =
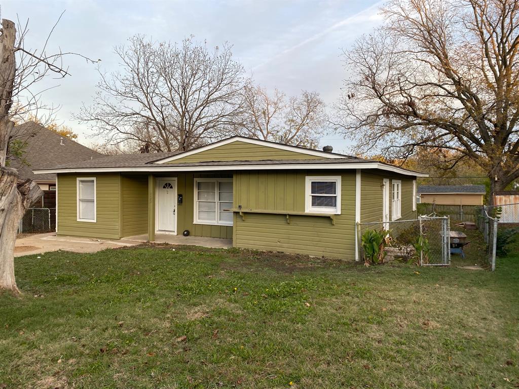
[[[392,0],[386,23],[345,53],[338,129],[358,151],[417,147],[471,161],[491,191],[519,177],[519,2]]]

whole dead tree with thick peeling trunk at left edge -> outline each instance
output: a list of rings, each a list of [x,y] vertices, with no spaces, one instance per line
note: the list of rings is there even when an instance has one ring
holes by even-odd
[[[28,207],[42,195],[42,191],[30,179],[20,181],[18,172],[6,166],[8,147],[16,137],[13,128],[15,121],[20,119],[20,115],[35,114],[37,108],[41,108],[39,102],[41,91],[34,92],[32,86],[49,73],[60,78],[69,75],[70,73],[62,66],[61,59],[65,54],[72,54],[60,52],[47,55],[47,43],[39,51],[25,49],[24,37],[27,31],[27,25],[25,25],[19,29],[17,34],[15,23],[2,19],[0,35],[0,288],[15,292],[18,291],[18,288],[15,280],[13,252],[18,224]]]

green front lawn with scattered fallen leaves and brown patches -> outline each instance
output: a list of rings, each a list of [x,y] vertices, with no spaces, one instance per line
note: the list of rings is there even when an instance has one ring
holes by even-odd
[[[16,259],[0,388],[519,387],[519,260],[497,271],[236,249]]]

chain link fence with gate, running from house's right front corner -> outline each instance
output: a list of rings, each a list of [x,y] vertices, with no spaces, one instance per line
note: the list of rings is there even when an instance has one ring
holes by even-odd
[[[412,220],[358,223],[359,237],[367,230],[386,234],[386,260],[414,260],[420,266],[449,266],[450,223],[448,216],[420,216]],[[388,231],[386,233],[386,231]],[[364,258],[362,238],[360,258]]]

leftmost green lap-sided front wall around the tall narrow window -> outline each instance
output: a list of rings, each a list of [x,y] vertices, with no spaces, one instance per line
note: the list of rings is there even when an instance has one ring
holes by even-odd
[[[77,177],[96,178],[96,223],[77,221]],[[119,239],[119,174],[58,174],[60,235]]]

